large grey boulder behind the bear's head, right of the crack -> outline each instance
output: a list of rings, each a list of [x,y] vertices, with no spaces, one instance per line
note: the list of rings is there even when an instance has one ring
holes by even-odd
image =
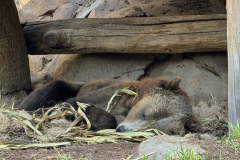
[[[149,73],[150,77],[181,77],[181,86],[195,103],[211,96],[227,101],[227,54],[174,55],[161,61]]]

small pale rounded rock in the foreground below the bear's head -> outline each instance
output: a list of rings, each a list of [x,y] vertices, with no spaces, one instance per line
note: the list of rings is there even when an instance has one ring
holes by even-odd
[[[181,147],[184,151],[186,149],[191,149],[194,155],[197,152],[199,154],[205,153],[205,151],[199,146],[190,144],[189,139],[187,138],[161,135],[149,138],[140,143],[140,145],[132,151],[133,156],[131,158],[138,158],[150,154],[148,156],[149,159],[162,160],[169,154],[174,157],[174,152],[181,151]]]

